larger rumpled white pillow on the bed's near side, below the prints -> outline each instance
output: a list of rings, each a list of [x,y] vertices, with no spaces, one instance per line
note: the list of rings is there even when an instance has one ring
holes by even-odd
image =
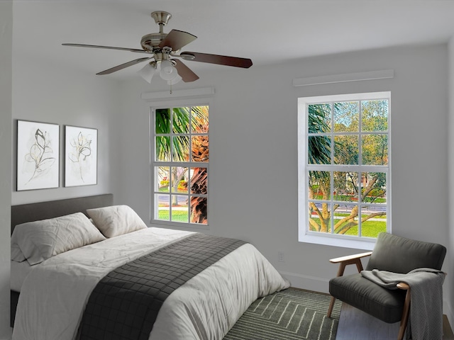
[[[14,228],[11,235],[11,259],[20,262],[25,257],[33,266],[64,251],[103,239],[106,237],[82,212],[27,222]]]

